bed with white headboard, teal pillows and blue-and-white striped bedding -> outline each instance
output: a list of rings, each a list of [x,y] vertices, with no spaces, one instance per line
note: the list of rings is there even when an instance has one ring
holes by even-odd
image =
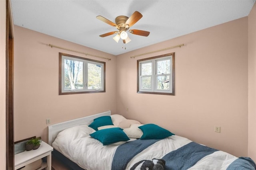
[[[236,157],[111,111],[48,126],[53,156],[74,170],[256,170]]]

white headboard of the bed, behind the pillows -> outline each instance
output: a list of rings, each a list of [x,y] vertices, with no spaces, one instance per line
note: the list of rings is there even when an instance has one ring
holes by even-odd
[[[77,126],[77,125],[89,125],[90,123],[92,123],[93,119],[96,119],[97,117],[109,116],[109,115],[111,115],[110,110],[103,112],[103,113],[98,113],[95,115],[90,115],[90,116],[81,117],[78,119],[50,125],[50,126],[48,126],[48,144],[52,146],[52,143],[55,140],[55,138],[57,137],[58,133],[60,133],[64,129],[67,129],[67,128],[73,127],[73,126]]]

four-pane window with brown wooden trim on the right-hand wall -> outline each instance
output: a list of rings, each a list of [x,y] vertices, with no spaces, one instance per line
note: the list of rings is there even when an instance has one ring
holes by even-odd
[[[174,95],[174,53],[137,61],[137,92]]]

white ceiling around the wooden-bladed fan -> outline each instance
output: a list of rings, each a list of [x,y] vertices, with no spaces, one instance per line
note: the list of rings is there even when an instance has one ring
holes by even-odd
[[[255,0],[11,0],[15,25],[113,55],[248,16],[254,3]],[[122,41],[116,43],[114,35],[99,37],[117,29],[96,16],[115,22],[117,16],[130,17],[134,11],[143,17],[130,29],[150,31],[148,37],[128,32],[132,41],[126,45]]]

